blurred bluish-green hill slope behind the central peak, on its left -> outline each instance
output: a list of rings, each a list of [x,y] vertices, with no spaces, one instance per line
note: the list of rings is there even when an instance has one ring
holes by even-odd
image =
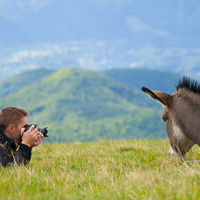
[[[34,69],[6,79],[0,83],[0,98],[14,94],[25,87],[37,83],[44,76],[54,71],[52,69]]]

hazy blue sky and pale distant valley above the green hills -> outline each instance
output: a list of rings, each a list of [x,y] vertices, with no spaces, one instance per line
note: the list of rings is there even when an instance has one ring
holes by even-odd
[[[1,0],[4,73],[69,65],[200,77],[200,2]]]

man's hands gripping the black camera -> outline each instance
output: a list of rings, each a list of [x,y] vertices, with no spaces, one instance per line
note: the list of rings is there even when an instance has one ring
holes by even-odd
[[[24,128],[21,130],[22,132],[24,131]],[[21,144],[25,144],[29,146],[30,148],[34,146],[38,146],[41,144],[43,138],[43,134],[38,131],[37,128],[35,128],[34,125],[31,126],[31,128],[24,132],[22,135],[22,142]]]

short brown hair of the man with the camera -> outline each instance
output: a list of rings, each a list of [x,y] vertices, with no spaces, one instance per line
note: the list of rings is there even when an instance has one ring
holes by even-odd
[[[10,124],[18,127],[22,118],[27,115],[29,115],[29,112],[23,108],[7,106],[0,111],[0,125],[4,131]]]

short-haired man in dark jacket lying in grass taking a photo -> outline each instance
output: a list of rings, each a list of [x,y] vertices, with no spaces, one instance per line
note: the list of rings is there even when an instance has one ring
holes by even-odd
[[[0,112],[0,163],[27,164],[31,150],[42,142],[43,134],[34,125],[24,132],[29,113],[21,108],[8,106]]]

